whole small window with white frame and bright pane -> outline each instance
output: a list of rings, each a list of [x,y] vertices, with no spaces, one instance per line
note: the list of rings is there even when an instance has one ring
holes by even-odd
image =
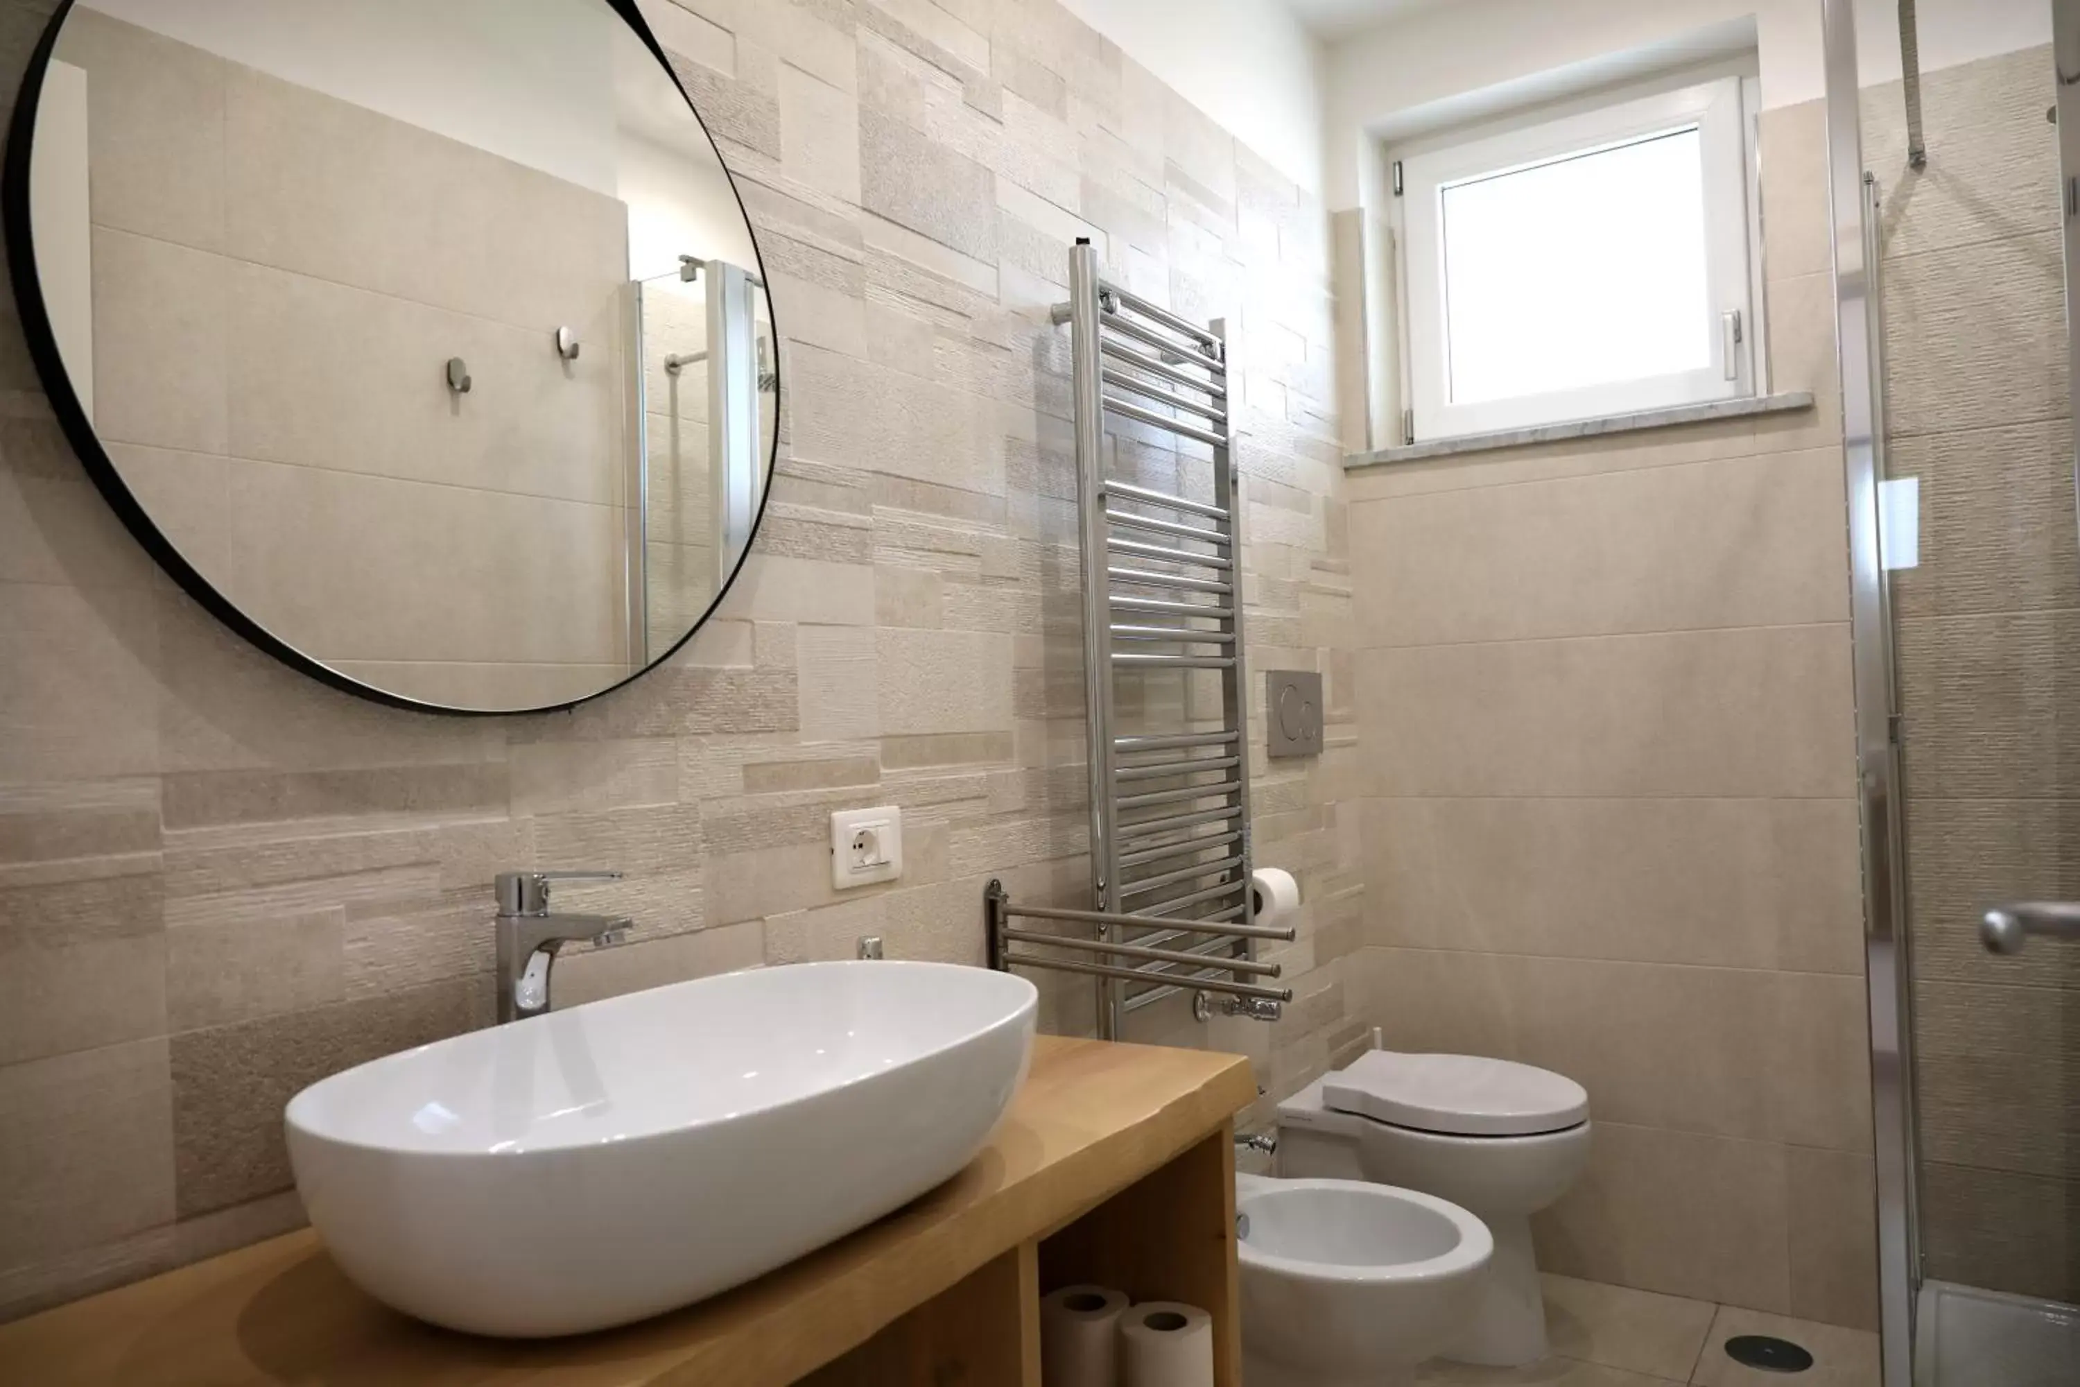
[[[1722,77],[1406,156],[1414,437],[1753,393],[1743,131]]]

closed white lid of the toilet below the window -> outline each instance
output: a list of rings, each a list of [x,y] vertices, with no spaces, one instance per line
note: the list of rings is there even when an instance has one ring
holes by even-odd
[[[1581,1083],[1477,1054],[1367,1050],[1327,1075],[1321,1100],[1396,1127],[1462,1137],[1527,1137],[1589,1121]]]

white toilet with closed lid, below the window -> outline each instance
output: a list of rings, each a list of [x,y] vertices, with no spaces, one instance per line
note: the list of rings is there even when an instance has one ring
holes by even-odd
[[[1458,1204],[1496,1256],[1441,1356],[1523,1366],[1545,1356],[1531,1214],[1589,1158],[1589,1094],[1545,1069],[1473,1054],[1371,1050],[1279,1104],[1279,1175],[1367,1179]]]

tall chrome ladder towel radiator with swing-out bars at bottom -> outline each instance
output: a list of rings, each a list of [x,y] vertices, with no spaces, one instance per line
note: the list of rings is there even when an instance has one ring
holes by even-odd
[[[1231,1015],[1277,1019],[1292,990],[1260,982],[1281,969],[1258,963],[1254,946],[1294,932],[1258,925],[1250,892],[1242,505],[1229,460],[1225,331],[1219,320],[1202,326],[1104,283],[1088,241],[1069,252],[1069,302],[1055,306],[1055,324],[1065,322],[1096,909],[1015,905],[990,882],[990,967],[1094,977],[1104,1040],[1119,1036],[1127,1013],[1179,992],[1196,994],[1200,1019],[1213,1011],[1208,996]],[[1175,464],[1175,491],[1113,476],[1123,466],[1107,468],[1107,414],[1140,426],[1129,441],[1152,435],[1150,453]],[[1173,726],[1159,728],[1144,711],[1146,726],[1121,732],[1121,680],[1134,680],[1132,705],[1163,707],[1148,688],[1161,672],[1184,682],[1217,676],[1219,713],[1194,717],[1194,690],[1181,688]],[[1088,930],[1028,930],[1013,923],[1019,919]]]

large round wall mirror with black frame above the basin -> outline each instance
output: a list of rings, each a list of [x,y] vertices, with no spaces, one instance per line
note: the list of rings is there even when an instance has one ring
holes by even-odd
[[[589,699],[701,624],[757,528],[772,306],[632,0],[64,4],[6,223],[96,485],[331,684]]]

